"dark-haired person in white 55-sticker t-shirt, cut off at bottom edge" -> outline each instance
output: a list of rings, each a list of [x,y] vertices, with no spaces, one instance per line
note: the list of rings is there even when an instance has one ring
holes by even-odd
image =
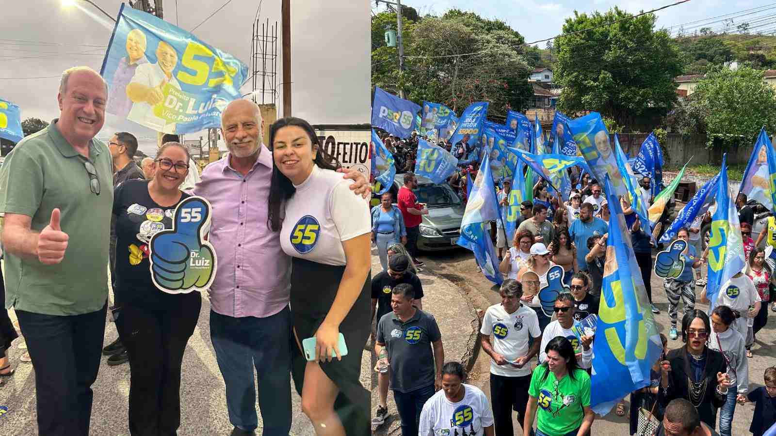
[[[442,390],[423,405],[420,436],[494,436],[493,412],[487,396],[476,386],[464,383],[464,378],[459,362],[442,366]]]

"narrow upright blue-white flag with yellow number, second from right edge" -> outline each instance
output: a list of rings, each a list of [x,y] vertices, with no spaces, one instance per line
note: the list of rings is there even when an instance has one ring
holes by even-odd
[[[741,226],[736,204],[730,196],[727,184],[727,154],[722,155],[722,169],[719,171],[716,202],[712,215],[712,230],[708,235],[708,284],[706,296],[715,306],[720,286],[747,265],[743,256]]]

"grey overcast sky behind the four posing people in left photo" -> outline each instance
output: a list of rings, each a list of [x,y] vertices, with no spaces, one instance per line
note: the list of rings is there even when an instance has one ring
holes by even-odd
[[[118,15],[119,0],[93,1],[111,16]],[[180,7],[177,18],[176,2]],[[190,30],[224,2],[165,0],[165,20],[177,20],[179,27]],[[59,114],[59,75],[76,65],[99,71],[113,22],[86,2],[80,2],[79,7],[62,6],[61,0],[3,3],[0,98],[18,105],[22,119],[32,116],[50,121]],[[259,19],[277,21],[279,26],[280,0],[231,0],[194,34],[250,67],[251,26],[259,3]],[[358,0],[292,0],[291,14],[293,115],[313,124],[369,123],[368,2],[359,5]],[[281,42],[278,41],[278,55]],[[280,68],[278,58],[279,74]],[[279,93],[281,78],[279,75]],[[248,81],[242,92],[251,91]],[[282,111],[282,98],[278,103]],[[106,114],[99,137],[109,137],[120,130],[134,133],[140,149],[154,153],[155,132],[111,114]],[[186,135],[186,139],[200,135],[207,139],[206,132]]]

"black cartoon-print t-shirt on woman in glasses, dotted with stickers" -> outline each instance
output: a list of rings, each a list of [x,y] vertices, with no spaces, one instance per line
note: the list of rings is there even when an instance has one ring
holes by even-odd
[[[181,193],[182,202],[189,197]],[[175,295],[162,292],[151,281],[148,243],[160,230],[172,228],[175,207],[160,206],[148,193],[147,180],[127,180],[113,193],[116,216],[116,288],[122,303],[163,308]]]

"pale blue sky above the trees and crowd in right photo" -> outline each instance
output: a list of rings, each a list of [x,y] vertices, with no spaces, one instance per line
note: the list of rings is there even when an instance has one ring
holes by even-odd
[[[592,0],[588,2],[573,0],[546,0],[544,2],[535,2],[533,0],[483,0],[480,2],[471,2],[470,0],[402,0],[401,3],[402,5],[414,7],[421,15],[428,13],[441,15],[448,9],[457,8],[476,12],[486,18],[498,18],[507,22],[512,29],[517,30],[522,36],[525,36],[526,42],[531,42],[559,34],[563,22],[566,18],[573,16],[575,9],[579,12],[593,12],[596,10],[605,12],[611,7],[618,5],[620,9],[631,13],[638,13],[642,10],[648,11],[674,2],[676,0]],[[771,2],[766,0],[757,2],[752,0],[739,0],[737,2],[692,0],[691,2],[656,12],[658,17],[657,26],[669,27],[680,25],[769,3]],[[374,2],[372,2],[372,5],[374,5]],[[382,11],[384,9],[385,6],[380,5],[379,9],[375,10]],[[763,13],[772,14],[773,10],[771,9],[771,12]],[[714,23],[709,26],[722,26],[722,24]],[[770,29],[773,28],[773,26],[768,27]],[[540,43],[539,47],[544,48],[545,44]]]

